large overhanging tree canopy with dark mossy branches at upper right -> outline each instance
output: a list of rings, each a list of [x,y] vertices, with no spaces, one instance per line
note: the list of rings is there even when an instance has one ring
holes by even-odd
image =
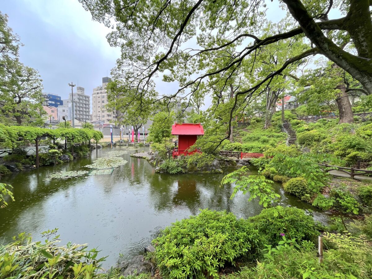
[[[107,38],[121,47],[122,55],[113,76],[128,88],[143,88],[141,97],[152,92],[153,78],[160,73],[164,81],[177,81],[179,89],[159,99],[190,99],[204,83],[203,90],[218,106],[228,96],[224,92],[234,91],[229,134],[234,115],[275,81],[272,87],[280,90],[290,74],[286,69],[314,54],[333,61],[372,94],[370,0],[282,0],[288,14],[280,28],[267,28],[266,9],[278,7],[264,0],[79,1],[93,19],[114,28]],[[333,9],[340,11],[339,18],[329,19]],[[297,52],[285,44],[302,40],[307,46]],[[277,44],[289,55],[274,58],[277,63],[270,61],[264,75],[257,75],[264,66],[259,55],[270,56]],[[347,44],[352,47],[345,48]]]

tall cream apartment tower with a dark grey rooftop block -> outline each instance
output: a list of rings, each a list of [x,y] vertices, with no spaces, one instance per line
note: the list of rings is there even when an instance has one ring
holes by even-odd
[[[111,81],[109,77],[102,78],[102,86],[97,86],[93,89],[92,104],[93,104],[93,121],[103,121],[109,124],[115,118],[114,113],[108,112],[105,106],[108,103],[106,86]]]

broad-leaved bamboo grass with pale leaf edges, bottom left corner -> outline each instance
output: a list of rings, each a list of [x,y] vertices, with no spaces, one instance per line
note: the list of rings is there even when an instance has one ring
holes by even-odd
[[[86,245],[58,246],[56,229],[42,233],[45,241],[33,242],[24,232],[14,242],[0,245],[0,278],[119,278],[119,273],[103,273],[106,257]]]

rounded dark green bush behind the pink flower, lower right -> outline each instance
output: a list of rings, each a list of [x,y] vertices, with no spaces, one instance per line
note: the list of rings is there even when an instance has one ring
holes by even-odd
[[[270,244],[282,240],[280,234],[299,240],[312,240],[318,234],[314,219],[306,215],[302,209],[295,207],[276,206],[263,209],[259,215],[248,220]]]

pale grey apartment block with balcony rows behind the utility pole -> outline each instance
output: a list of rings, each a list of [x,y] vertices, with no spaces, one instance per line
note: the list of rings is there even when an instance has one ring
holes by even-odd
[[[76,91],[74,92],[75,118],[81,121],[90,121],[90,96],[84,94],[84,87],[78,86]],[[71,93],[67,100],[63,100],[63,105],[72,105]]]

